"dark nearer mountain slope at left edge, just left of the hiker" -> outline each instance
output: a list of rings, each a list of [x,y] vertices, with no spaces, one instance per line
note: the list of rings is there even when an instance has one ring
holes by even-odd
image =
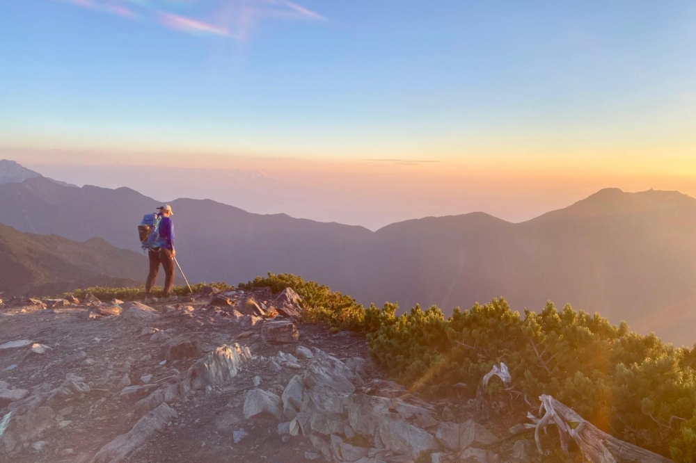
[[[0,293],[57,295],[86,286],[137,286],[148,261],[102,238],[79,243],[0,225]]]

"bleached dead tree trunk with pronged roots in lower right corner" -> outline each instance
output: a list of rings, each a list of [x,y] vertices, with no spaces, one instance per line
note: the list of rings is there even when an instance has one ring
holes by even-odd
[[[569,439],[573,439],[585,458],[592,463],[670,463],[672,460],[617,439],[596,428],[589,421],[551,396],[539,396],[539,417],[528,414],[534,424],[535,441],[539,453],[543,454],[539,432],[555,424],[560,436],[561,448],[568,453]]]

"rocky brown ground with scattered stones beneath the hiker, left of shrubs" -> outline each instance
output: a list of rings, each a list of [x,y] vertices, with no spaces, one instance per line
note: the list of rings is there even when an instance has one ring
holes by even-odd
[[[427,403],[300,311],[292,290],[6,301],[0,462],[541,461],[517,417]]]

